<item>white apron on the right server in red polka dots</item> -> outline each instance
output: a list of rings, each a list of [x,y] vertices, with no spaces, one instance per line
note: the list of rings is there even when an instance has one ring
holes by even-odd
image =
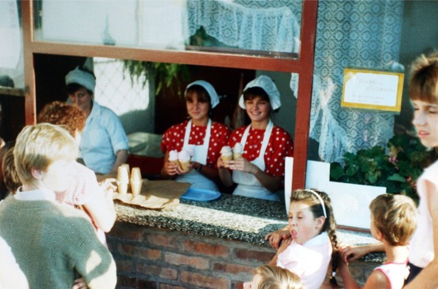
[[[248,137],[248,133],[251,125],[249,125],[242,135],[242,139],[240,143],[242,143],[242,147],[245,148],[246,138]],[[256,165],[262,171],[265,171],[265,159],[264,155],[266,152],[266,148],[268,147],[269,139],[272,133],[272,128],[274,124],[269,120],[268,126],[266,126],[265,134],[263,135],[263,141],[261,142],[260,154],[256,159],[251,161],[253,165]],[[272,193],[265,187],[261,185],[259,180],[250,173],[246,171],[233,171],[233,182],[237,184],[237,187],[233,191],[233,195],[243,195],[245,197],[257,197],[258,199],[269,199],[271,201],[279,201],[279,196],[276,193]]]

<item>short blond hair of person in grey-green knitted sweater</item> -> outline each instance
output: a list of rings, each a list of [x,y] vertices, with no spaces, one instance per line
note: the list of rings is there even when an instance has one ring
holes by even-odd
[[[60,126],[47,123],[25,126],[16,138],[14,163],[23,184],[34,182],[32,169],[47,171],[54,161],[75,159],[75,140]]]

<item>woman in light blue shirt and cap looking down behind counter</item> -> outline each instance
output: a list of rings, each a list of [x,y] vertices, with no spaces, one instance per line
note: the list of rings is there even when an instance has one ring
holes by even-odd
[[[79,157],[98,174],[117,173],[128,157],[128,137],[118,115],[94,99],[96,77],[86,68],[75,68],[66,75],[68,99],[86,113]]]

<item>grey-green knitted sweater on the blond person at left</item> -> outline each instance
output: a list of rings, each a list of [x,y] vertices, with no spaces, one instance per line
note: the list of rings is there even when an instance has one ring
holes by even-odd
[[[91,289],[116,287],[112,255],[80,210],[10,196],[0,203],[0,236],[10,245],[30,288],[70,289],[76,274]]]

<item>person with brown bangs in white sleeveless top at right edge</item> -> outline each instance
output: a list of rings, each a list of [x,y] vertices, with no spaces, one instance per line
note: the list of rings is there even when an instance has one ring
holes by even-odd
[[[420,55],[411,66],[409,96],[414,109],[412,120],[417,137],[432,150],[438,148],[438,53]],[[427,167],[417,180],[420,197],[415,230],[409,245],[407,289],[438,288],[438,161]],[[371,251],[382,251],[383,245],[346,247],[342,256],[357,260]]]

